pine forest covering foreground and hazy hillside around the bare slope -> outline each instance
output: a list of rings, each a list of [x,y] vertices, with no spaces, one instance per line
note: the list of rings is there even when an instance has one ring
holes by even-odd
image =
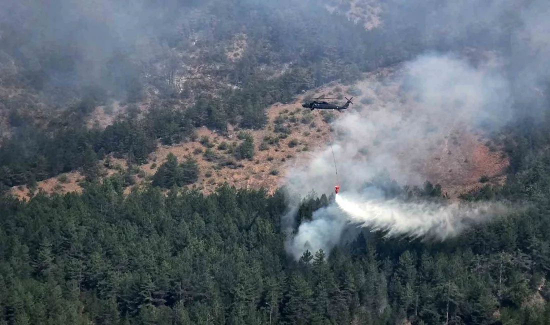
[[[447,1],[380,1],[383,26],[372,30],[324,6],[349,9],[339,1],[97,2],[112,5],[105,12],[118,23],[69,1],[58,11],[6,2],[17,15],[0,13],[0,324],[550,324],[550,74],[537,75],[546,95],[526,95],[534,79],[526,67],[541,54],[518,49],[521,15],[495,14],[504,1],[482,5],[467,26],[445,20],[454,8]],[[439,31],[453,24],[454,34]],[[233,62],[224,48],[238,33],[247,46]],[[516,82],[514,119],[492,134],[509,159],[507,179],[461,200],[522,209],[456,238],[388,239],[364,228],[296,261],[289,238],[334,196],[311,189],[288,232],[283,216],[295,198],[284,187],[269,195],[223,185],[205,195],[186,186],[199,169],[192,157],[169,155],[149,183],[125,194],[131,166],[158,145],[196,141],[199,126],[261,129],[268,106],[304,90],[467,47],[511,58],[504,69]],[[177,90],[174,74],[187,76],[182,67],[194,60],[210,81]],[[122,117],[87,126],[95,107],[113,101]],[[238,140],[235,158],[252,158],[250,137]],[[108,155],[129,170],[102,175]],[[71,170],[86,177],[81,193],[20,201],[7,191]],[[396,184],[386,177],[366,186],[448,200],[429,182]]]

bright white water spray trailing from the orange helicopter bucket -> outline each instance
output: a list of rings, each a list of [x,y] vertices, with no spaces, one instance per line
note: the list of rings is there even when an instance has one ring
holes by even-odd
[[[503,205],[488,202],[440,205],[398,200],[361,200],[347,195],[337,195],[335,201],[346,212],[349,222],[360,227],[386,230],[388,237],[428,236],[439,240],[458,235],[469,225],[506,211]]]

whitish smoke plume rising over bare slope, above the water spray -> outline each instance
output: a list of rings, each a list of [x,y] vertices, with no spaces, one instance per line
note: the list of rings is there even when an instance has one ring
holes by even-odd
[[[401,75],[370,78],[358,86],[360,98],[373,104],[343,113],[327,135],[334,137],[339,181],[346,190],[360,190],[384,170],[401,184],[420,185],[426,178],[419,169],[432,155],[434,139],[453,129],[502,125],[511,116],[502,75],[447,55],[421,56],[406,63]],[[360,154],[365,151],[367,155]],[[311,189],[329,192],[335,181],[328,143],[309,162],[296,164],[285,179],[289,191],[302,197]]]

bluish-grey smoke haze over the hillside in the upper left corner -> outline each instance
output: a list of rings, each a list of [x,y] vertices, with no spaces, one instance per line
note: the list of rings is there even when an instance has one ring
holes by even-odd
[[[56,100],[88,87],[124,96],[144,74],[162,75],[148,69],[193,13],[177,0],[3,0],[2,8],[0,64],[12,62],[10,75]]]

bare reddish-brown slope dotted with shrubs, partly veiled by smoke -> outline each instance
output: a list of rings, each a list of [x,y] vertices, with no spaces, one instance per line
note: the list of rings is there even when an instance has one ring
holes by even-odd
[[[313,151],[325,148],[329,141],[337,136],[323,121],[325,114],[328,114],[326,118],[341,119],[345,114],[358,112],[376,124],[388,123],[387,128],[406,128],[407,124],[402,124],[402,119],[393,119],[392,115],[388,114],[397,112],[399,116],[406,116],[414,109],[414,103],[400,97],[398,82],[379,81],[393,73],[395,71],[391,69],[379,70],[367,74],[364,80],[355,85],[333,83],[297,96],[293,103],[274,104],[267,111],[268,124],[262,130],[239,130],[229,125],[227,134],[222,135],[205,127],[199,128],[195,141],[158,146],[150,155],[150,161],[135,171],[135,184],[149,181],[157,168],[166,161],[168,153],[172,152],[180,162],[188,156],[196,159],[200,170],[199,179],[191,186],[197,186],[205,193],[212,192],[226,181],[237,187],[263,187],[273,192],[281,185],[279,179],[289,168],[307,162]],[[350,112],[343,113],[310,112],[309,109],[301,107],[301,102],[306,98],[321,95],[338,98],[355,96],[354,104],[350,106]],[[338,103],[343,101],[336,100]],[[398,107],[392,106],[396,102],[404,103]],[[105,118],[101,120],[105,121]],[[394,123],[394,120],[398,122]],[[255,149],[252,159],[237,160],[230,150],[240,142],[240,131],[248,132],[254,138]],[[467,125],[456,124],[450,128],[431,130],[423,135],[423,139],[403,142],[399,146],[384,146],[386,140],[381,135],[372,134],[372,137],[375,139],[374,144],[367,146],[368,152],[360,155],[368,158],[368,155],[376,154],[377,150],[392,151],[395,157],[399,157],[401,165],[410,166],[410,169],[418,173],[423,180],[441,184],[443,191],[452,197],[483,186],[487,182],[499,185],[504,180],[503,170],[508,164],[507,157],[498,147],[488,143],[482,134],[469,129]],[[377,144],[377,141],[381,142]],[[368,141],[365,142],[367,143]],[[411,155],[411,144],[419,146],[417,150],[425,154]],[[205,155],[206,150],[208,155]],[[125,168],[124,161],[111,158],[109,168],[104,173],[124,172]],[[392,170],[390,174],[391,172]],[[47,192],[76,191],[79,190],[78,179],[81,178],[83,177],[77,173],[71,173],[67,183],[53,178],[39,182],[37,188]],[[18,197],[26,196],[27,192],[25,186],[12,189],[12,193]]]

